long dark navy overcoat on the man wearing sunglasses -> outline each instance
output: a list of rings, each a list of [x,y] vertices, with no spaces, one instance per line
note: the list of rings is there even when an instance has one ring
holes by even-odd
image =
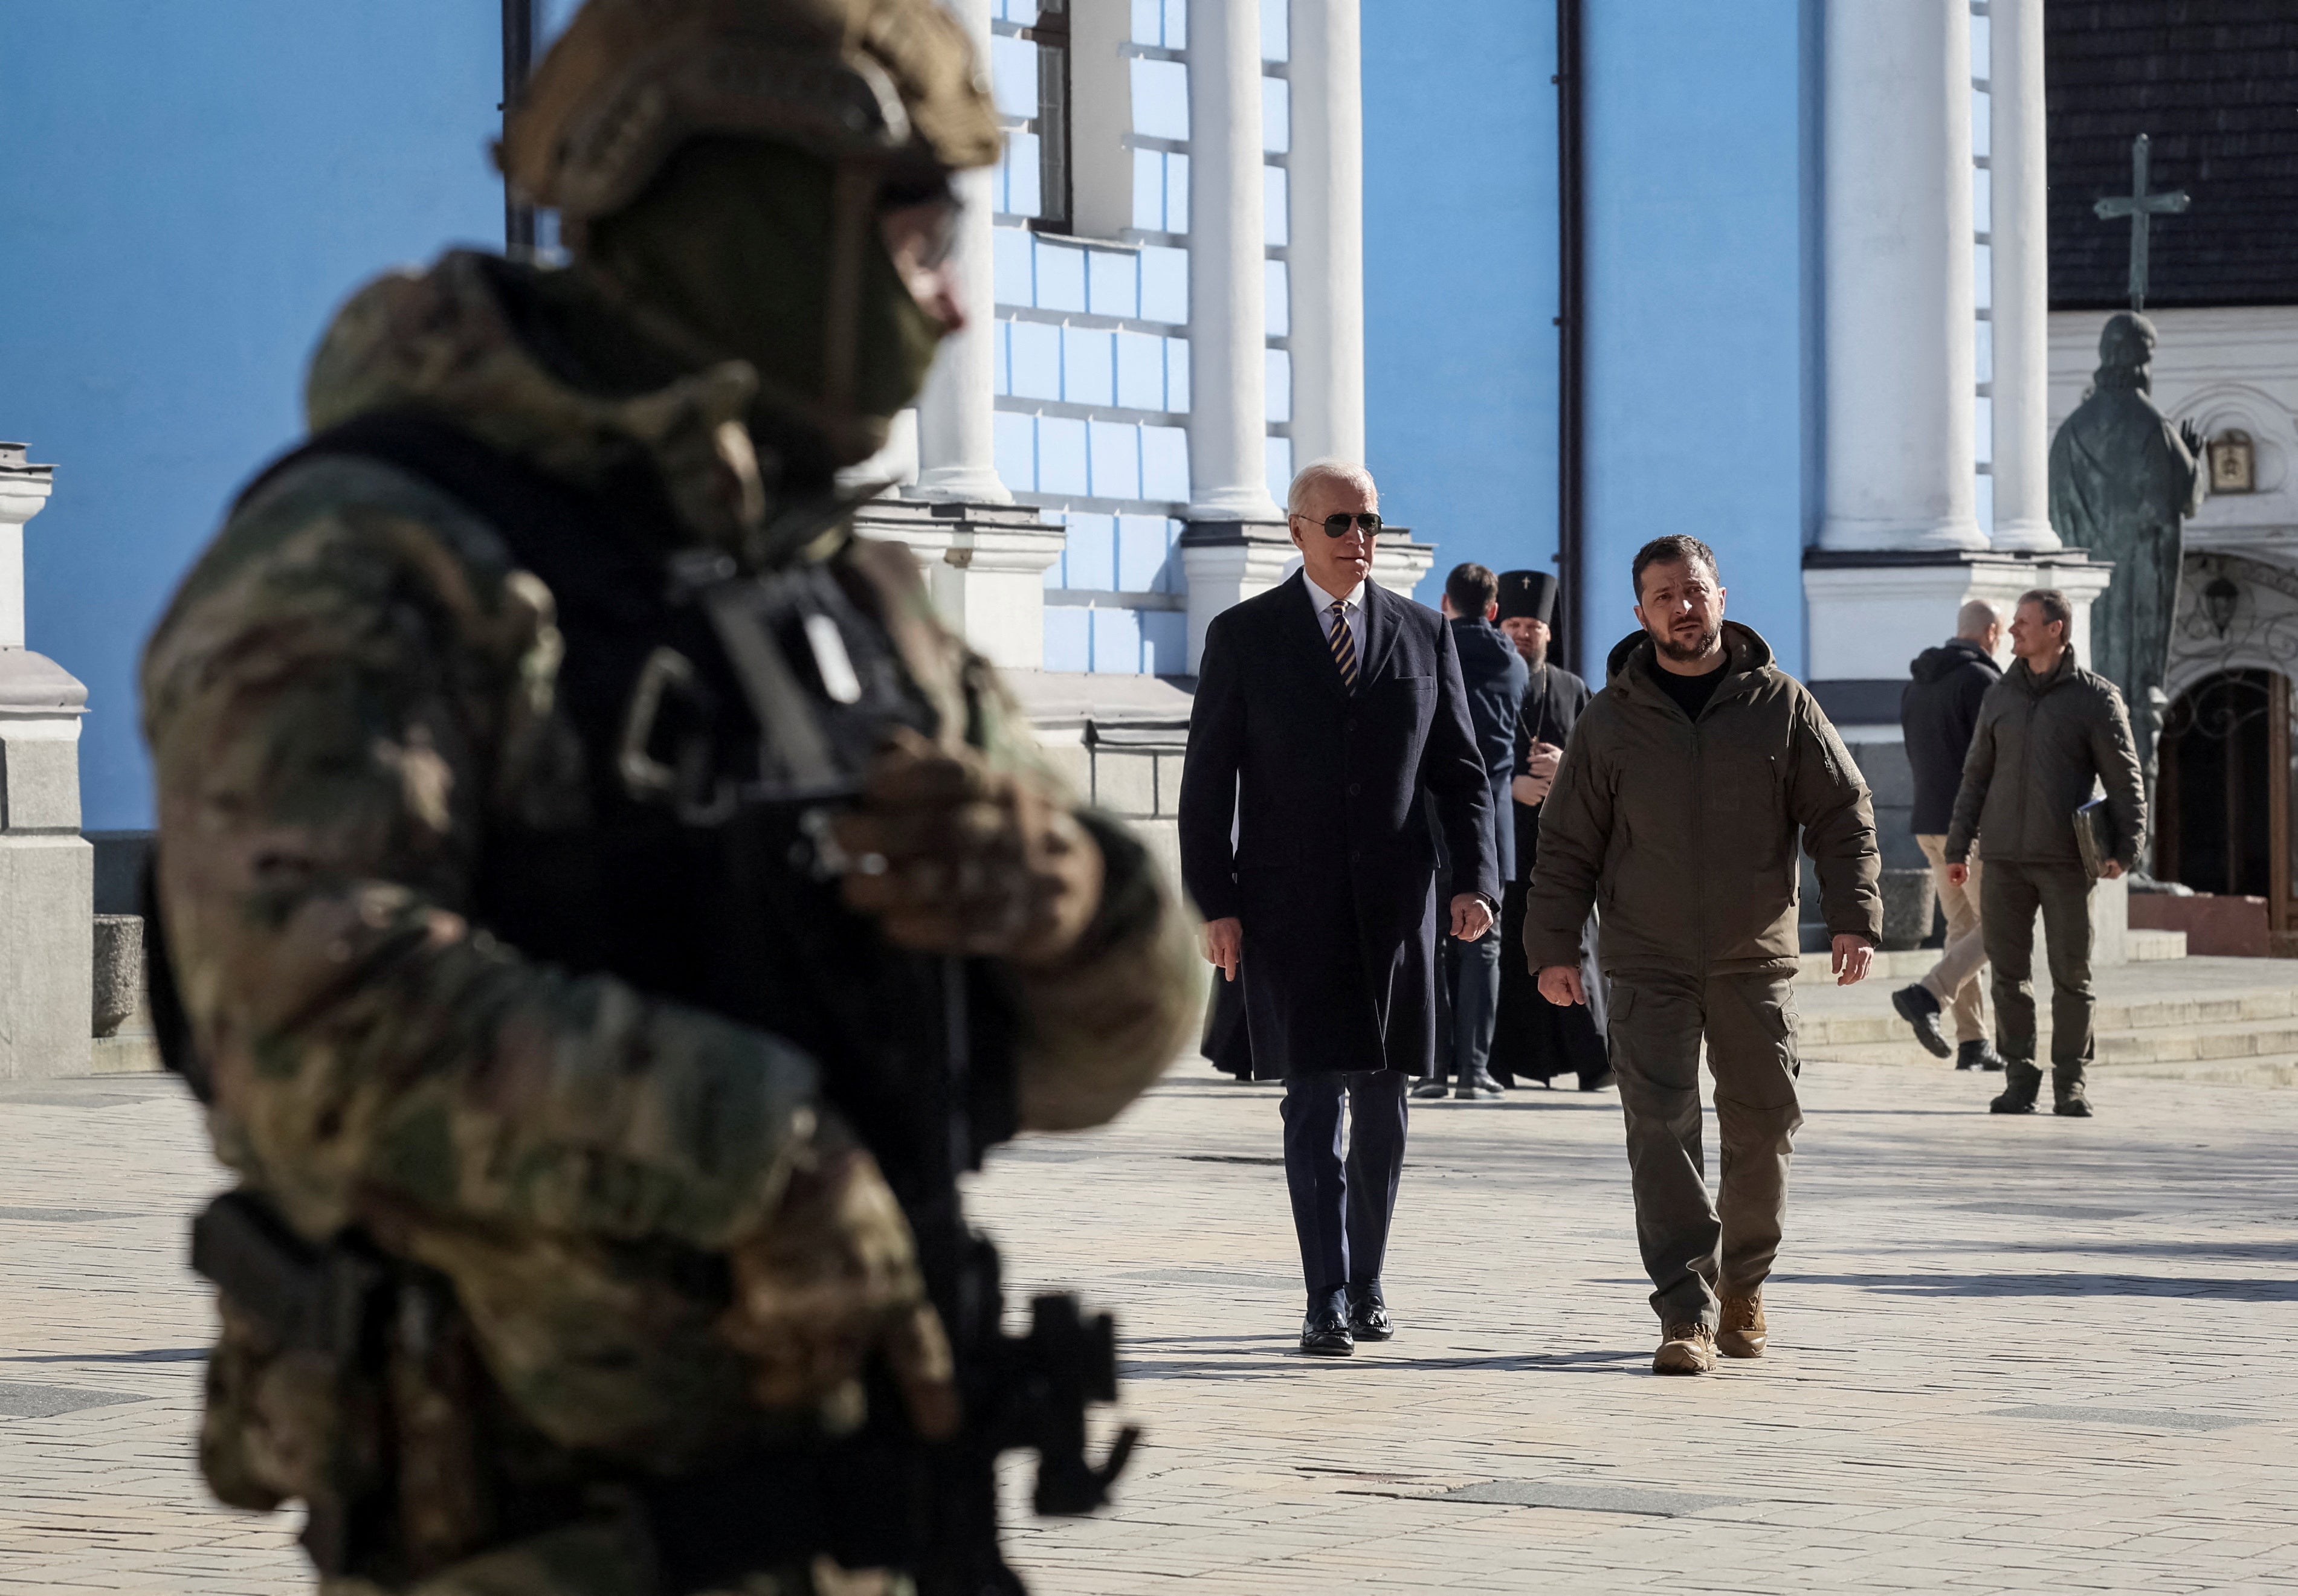
[[[1216,615],[1204,638],[1181,877],[1204,919],[1246,925],[1259,1077],[1427,1072],[1443,928],[1432,811],[1455,886],[1501,896],[1452,629],[1370,581],[1363,606],[1354,691],[1298,572]]]

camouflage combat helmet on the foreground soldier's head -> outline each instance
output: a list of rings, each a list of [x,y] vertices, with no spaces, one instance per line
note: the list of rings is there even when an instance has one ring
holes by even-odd
[[[988,165],[1000,142],[981,62],[940,0],[588,0],[496,161],[522,197],[581,223],[710,133],[919,175]]]

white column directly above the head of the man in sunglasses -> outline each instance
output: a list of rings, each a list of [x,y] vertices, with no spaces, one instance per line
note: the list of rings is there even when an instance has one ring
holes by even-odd
[[[1365,459],[1358,0],[1291,0],[1294,462]]]

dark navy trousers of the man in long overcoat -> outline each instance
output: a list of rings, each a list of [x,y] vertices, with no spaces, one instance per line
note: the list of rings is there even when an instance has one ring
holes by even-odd
[[[1285,1185],[1308,1307],[1347,1309],[1381,1293],[1388,1219],[1404,1173],[1404,1088],[1397,1070],[1294,1075],[1285,1082]],[[1349,1105],[1342,1130],[1340,1107]]]

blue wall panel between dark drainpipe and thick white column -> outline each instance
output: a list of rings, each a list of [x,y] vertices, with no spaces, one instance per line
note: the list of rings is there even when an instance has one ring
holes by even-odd
[[[1815,30],[1799,0],[1588,5],[1581,668],[1636,622],[1629,563],[1714,547],[1728,613],[1804,668],[1818,462]]]

